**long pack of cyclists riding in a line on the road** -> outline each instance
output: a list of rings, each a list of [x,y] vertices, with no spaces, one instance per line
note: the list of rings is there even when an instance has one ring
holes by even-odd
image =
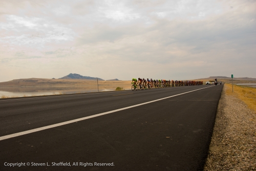
[[[132,79],[132,90],[143,90],[151,88],[162,88],[162,87],[178,87],[178,86],[192,86],[192,85],[203,85],[202,81],[170,81],[170,80],[153,80],[153,79]]]

